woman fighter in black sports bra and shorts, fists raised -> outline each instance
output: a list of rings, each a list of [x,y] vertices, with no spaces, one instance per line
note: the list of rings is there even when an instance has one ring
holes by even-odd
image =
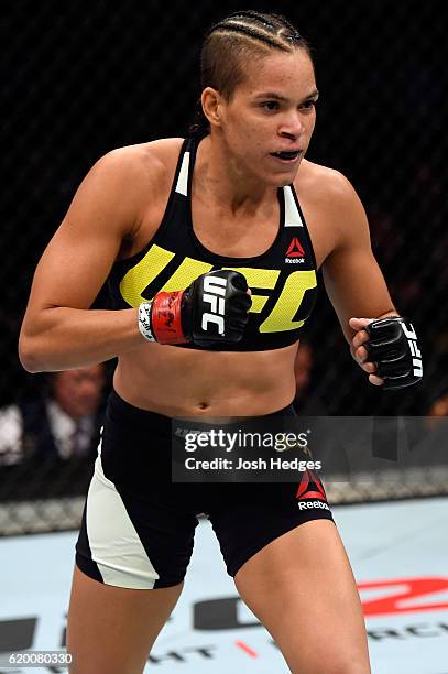
[[[305,159],[318,98],[307,43],[282,17],[238,12],[208,32],[201,72],[203,121],[187,139],[121,148],[90,170],[23,320],[31,372],[118,357],[77,543],[72,672],[143,670],[205,513],[292,672],[367,674],[360,599],[320,485],[299,501],[293,483],[170,479],[172,417],[292,413],[319,268],[370,382],[420,376],[353,187]],[[90,309],[107,279],[114,309]]]

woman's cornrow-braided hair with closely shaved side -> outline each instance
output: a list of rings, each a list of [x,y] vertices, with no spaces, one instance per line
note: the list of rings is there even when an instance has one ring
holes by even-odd
[[[244,10],[221,19],[208,30],[203,44],[203,89],[212,87],[230,100],[236,87],[245,78],[245,64],[266,56],[272,50],[287,53],[304,50],[310,56],[306,40],[281,14]],[[188,132],[197,137],[209,133],[200,101]]]

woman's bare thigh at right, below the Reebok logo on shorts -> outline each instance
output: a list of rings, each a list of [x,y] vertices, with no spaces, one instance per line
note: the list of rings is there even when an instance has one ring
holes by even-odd
[[[234,583],[293,673],[370,672],[361,602],[334,522],[313,520],[278,536]]]

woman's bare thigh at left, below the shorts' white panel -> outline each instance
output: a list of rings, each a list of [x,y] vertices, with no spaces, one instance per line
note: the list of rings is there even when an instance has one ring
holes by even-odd
[[[140,674],[174,609],[183,583],[128,589],[94,580],[75,566],[67,623],[72,674]]]

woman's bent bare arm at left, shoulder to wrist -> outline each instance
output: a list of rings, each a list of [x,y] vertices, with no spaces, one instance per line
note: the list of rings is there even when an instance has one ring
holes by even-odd
[[[34,274],[19,339],[20,360],[29,372],[102,362],[145,344],[138,309],[89,307],[123,238],[136,230],[147,207],[147,163],[145,155],[142,171],[138,150],[117,150],[99,160],[80,184]]]

